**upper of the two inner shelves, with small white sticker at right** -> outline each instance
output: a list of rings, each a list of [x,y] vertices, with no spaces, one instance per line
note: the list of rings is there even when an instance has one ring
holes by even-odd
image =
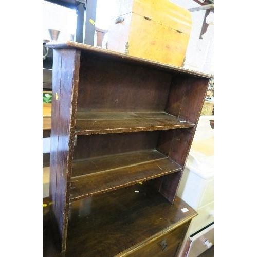
[[[76,119],[76,135],[121,133],[135,131],[171,130],[194,127],[164,112],[80,112]]]

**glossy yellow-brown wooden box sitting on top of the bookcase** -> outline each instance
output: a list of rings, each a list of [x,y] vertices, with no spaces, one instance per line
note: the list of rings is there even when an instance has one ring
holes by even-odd
[[[192,28],[189,10],[169,0],[116,0],[108,49],[181,67]],[[117,10],[117,11],[115,11]]]

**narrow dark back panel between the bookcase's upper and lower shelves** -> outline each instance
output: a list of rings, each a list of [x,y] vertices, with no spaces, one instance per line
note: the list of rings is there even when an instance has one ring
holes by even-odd
[[[78,136],[74,160],[155,149],[159,131]]]

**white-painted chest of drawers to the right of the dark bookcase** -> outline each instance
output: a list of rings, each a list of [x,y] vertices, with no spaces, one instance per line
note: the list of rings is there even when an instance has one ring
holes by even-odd
[[[192,219],[181,257],[194,257],[214,244],[214,116],[200,116],[177,195],[198,215]]]

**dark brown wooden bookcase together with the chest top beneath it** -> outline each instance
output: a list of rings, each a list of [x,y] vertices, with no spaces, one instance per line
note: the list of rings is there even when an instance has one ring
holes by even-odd
[[[196,215],[172,210],[212,76],[76,42],[47,46],[60,252],[83,244],[77,256],[147,256],[144,246],[162,251],[155,240],[172,230],[166,253],[175,254]]]

